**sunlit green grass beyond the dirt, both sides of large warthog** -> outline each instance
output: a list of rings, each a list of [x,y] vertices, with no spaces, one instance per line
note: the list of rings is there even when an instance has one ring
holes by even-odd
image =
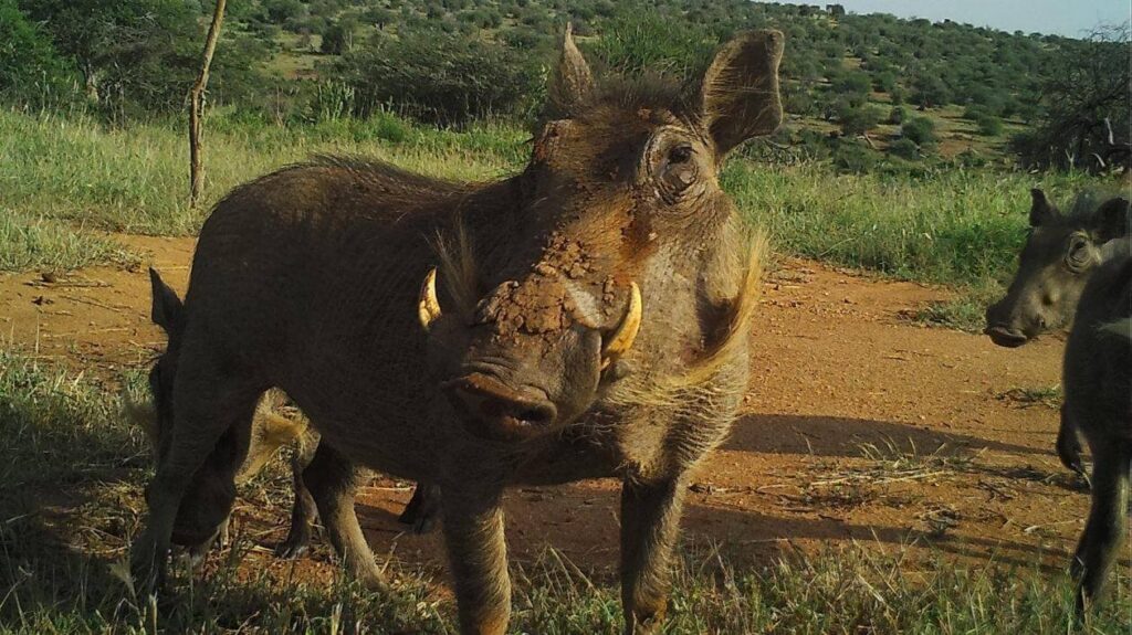
[[[0,111],[0,163],[6,166],[0,210],[7,217],[0,224],[0,253],[6,254],[0,268],[74,268],[121,258],[121,250],[92,237],[87,227],[194,234],[234,185],[317,153],[489,180],[517,172],[529,151],[528,133],[503,124],[436,130],[379,113],[369,121],[277,127],[217,113],[206,121],[206,197],[192,209],[182,128],[154,122],[110,130],[80,113]],[[737,157],[721,182],[782,250],[955,286],[962,290],[955,301],[928,307],[921,319],[977,330],[986,301],[1012,273],[1030,188],[1069,198],[1090,180],[961,167],[835,175],[820,164],[775,167]]]

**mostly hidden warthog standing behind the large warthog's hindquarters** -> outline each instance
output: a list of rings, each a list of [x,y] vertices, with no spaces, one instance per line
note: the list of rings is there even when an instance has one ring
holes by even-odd
[[[153,292],[153,304],[151,318],[155,324],[161,327],[169,337],[169,346],[149,371],[149,399],[136,401],[127,394],[126,410],[130,419],[140,425],[151,440],[156,456],[161,456],[160,440],[169,438],[162,428],[172,426],[172,394],[173,384],[177,376],[177,363],[180,356],[181,331],[185,325],[183,305],[177,293],[170,288],[157,271],[149,270],[149,281]],[[317,508],[316,501],[306,482],[317,481],[319,475],[312,473],[311,469],[316,447],[319,443],[318,433],[309,425],[307,418],[289,403],[284,393],[278,390],[268,390],[256,405],[255,415],[251,420],[251,432],[248,440],[248,450],[241,464],[235,467],[235,481],[243,481],[256,476],[272,459],[272,456],[285,445],[294,445],[294,453],[291,460],[291,473],[294,485],[294,503],[291,510],[291,523],[286,539],[281,542],[275,554],[280,557],[291,558],[302,555],[310,542],[311,524]],[[308,471],[311,470],[311,471]],[[201,478],[212,479],[214,482],[201,485],[200,490],[224,493],[229,495],[230,485],[233,477],[225,471],[204,471]],[[417,532],[430,531],[437,512],[438,496],[431,494],[432,488],[423,486],[417,489],[409,506],[398,519],[401,522],[413,525]],[[209,514],[215,507],[209,505],[185,506],[182,514],[194,512],[205,512],[204,517],[186,516],[179,519],[179,527],[194,527],[197,523],[201,529],[191,531],[199,534],[212,529],[212,517]],[[218,531],[214,532],[211,540],[190,545],[194,557],[203,556],[215,538],[221,542],[228,541],[228,520],[221,523]],[[333,532],[336,528],[331,527]],[[376,565],[371,565],[376,566]],[[374,579],[368,571],[353,571],[354,575],[362,579]],[[376,580],[376,579],[374,579]]]

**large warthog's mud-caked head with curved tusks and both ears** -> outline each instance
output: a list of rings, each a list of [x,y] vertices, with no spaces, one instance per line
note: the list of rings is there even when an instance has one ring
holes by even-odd
[[[443,237],[422,285],[431,368],[473,435],[559,429],[632,358],[671,365],[704,349],[747,263],[720,167],[780,124],[782,43],[738,36],[681,96],[595,82],[567,29],[550,116],[497,191],[506,209]]]

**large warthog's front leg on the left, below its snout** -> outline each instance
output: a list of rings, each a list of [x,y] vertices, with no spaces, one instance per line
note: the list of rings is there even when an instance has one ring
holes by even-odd
[[[501,492],[441,488],[444,537],[456,586],[460,632],[503,635],[511,619],[511,579],[504,542]]]

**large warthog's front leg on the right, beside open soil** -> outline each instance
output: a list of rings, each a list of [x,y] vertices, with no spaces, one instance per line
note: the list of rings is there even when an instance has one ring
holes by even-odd
[[[621,603],[626,635],[660,630],[668,609],[669,565],[680,523],[684,480],[621,487]]]

